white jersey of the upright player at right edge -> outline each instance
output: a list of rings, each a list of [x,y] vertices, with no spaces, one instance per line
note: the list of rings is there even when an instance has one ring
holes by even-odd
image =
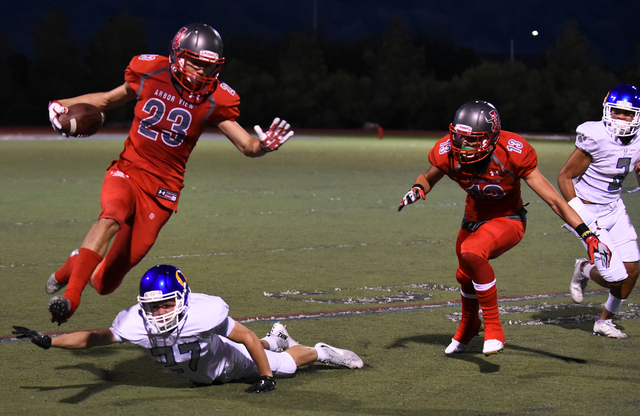
[[[576,132],[576,147],[592,157],[584,174],[573,180],[577,196],[596,204],[614,202],[620,198],[624,179],[640,161],[640,139],[636,135],[625,145],[602,121],[582,123]]]

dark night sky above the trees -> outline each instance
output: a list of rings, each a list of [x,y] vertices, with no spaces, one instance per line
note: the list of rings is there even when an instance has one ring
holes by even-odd
[[[53,4],[68,16],[71,35],[83,46],[105,22],[128,11],[146,22],[148,52],[161,54],[175,32],[192,22],[210,24],[223,40],[243,34],[278,38],[316,28],[326,39],[352,41],[380,33],[392,17],[401,18],[417,34],[505,54],[512,44],[516,54],[544,52],[566,22],[575,20],[592,51],[614,67],[635,63],[640,43],[637,0],[23,0],[21,12],[0,16],[0,30],[14,52],[32,57],[33,29]],[[534,30],[538,36],[532,35]]]

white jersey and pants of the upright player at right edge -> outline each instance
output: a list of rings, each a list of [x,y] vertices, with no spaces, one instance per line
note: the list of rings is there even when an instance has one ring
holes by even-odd
[[[605,268],[599,256],[596,267],[610,282],[627,278],[623,262],[640,260],[638,236],[620,197],[622,183],[640,161],[640,138],[622,143],[602,121],[588,121],[577,128],[576,147],[591,155],[591,164],[573,179],[578,198],[592,218],[582,218],[612,252],[611,266]]]

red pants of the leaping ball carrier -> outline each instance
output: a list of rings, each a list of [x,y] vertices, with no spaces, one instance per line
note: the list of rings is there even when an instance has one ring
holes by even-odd
[[[113,219],[120,225],[104,260],[93,275],[95,289],[106,295],[118,288],[129,270],[151,250],[173,211],[160,205],[132,178],[115,168],[109,169],[105,175],[100,204],[100,218]]]

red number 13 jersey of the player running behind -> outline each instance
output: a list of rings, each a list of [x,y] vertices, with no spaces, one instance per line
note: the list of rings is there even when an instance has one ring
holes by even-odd
[[[451,156],[449,135],[438,140],[429,152],[429,162],[467,192],[464,213],[472,222],[505,217],[522,209],[520,179],[538,165],[535,149],[523,137],[504,130],[489,157],[484,172],[463,168]]]

